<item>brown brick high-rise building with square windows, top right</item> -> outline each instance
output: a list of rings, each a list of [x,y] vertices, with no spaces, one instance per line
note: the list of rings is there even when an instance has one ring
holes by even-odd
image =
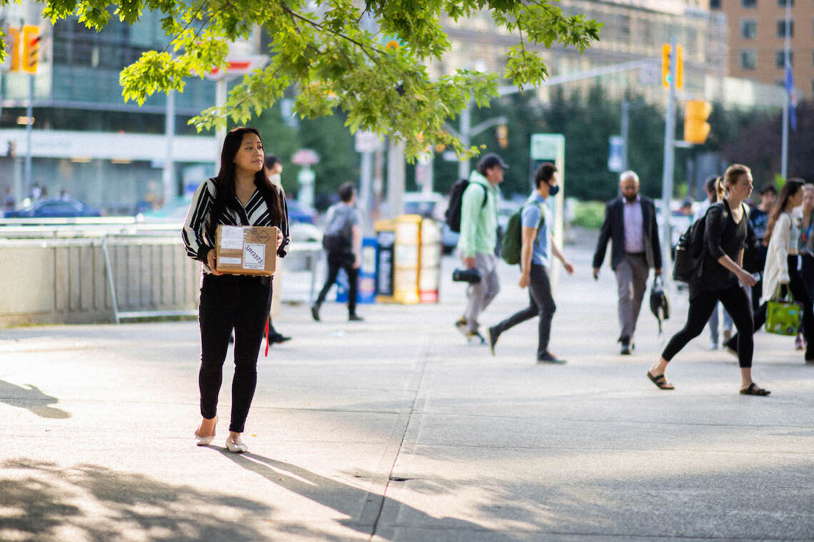
[[[814,94],[814,4],[811,0],[711,0],[729,20],[729,75],[769,85],[785,83],[785,41],[790,37],[794,86]],[[786,3],[791,18],[786,24]]]

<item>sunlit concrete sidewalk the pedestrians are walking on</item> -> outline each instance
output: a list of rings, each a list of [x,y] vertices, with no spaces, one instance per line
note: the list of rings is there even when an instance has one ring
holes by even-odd
[[[453,328],[463,290],[433,306],[326,304],[275,320],[245,438],[225,452],[231,363],[212,446],[197,448],[194,322],[0,330],[0,540],[814,540],[814,367],[790,338],[755,336],[755,379],[707,332],[669,372],[647,304],[620,357],[615,280],[590,279],[593,238],[567,247],[551,349],[536,321],[497,357]],[[491,324],[527,293],[503,266]],[[231,355],[231,353],[230,353]]]

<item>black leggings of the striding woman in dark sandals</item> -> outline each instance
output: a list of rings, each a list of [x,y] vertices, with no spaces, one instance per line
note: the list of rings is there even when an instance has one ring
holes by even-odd
[[[672,336],[662,353],[662,358],[669,362],[690,340],[701,335],[712,311],[716,309],[718,301],[732,316],[732,321],[738,331],[735,334],[735,337],[738,338],[733,337],[733,340],[737,340],[737,343],[733,343],[737,344],[737,361],[744,368],[752,366],[755,343],[751,333],[753,329],[751,303],[746,291],[740,286],[732,286],[723,290],[705,290],[703,293],[691,297],[687,323],[680,332]]]

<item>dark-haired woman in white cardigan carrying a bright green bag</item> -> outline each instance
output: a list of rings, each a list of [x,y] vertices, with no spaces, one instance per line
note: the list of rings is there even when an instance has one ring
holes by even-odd
[[[755,312],[755,325],[746,335],[757,331],[766,323],[768,301],[785,297],[790,292],[794,301],[803,304],[803,333],[807,342],[805,350],[806,363],[814,363],[814,306],[812,298],[808,295],[803,279],[797,271],[798,247],[800,228],[792,215],[795,207],[803,203],[803,181],[790,179],[786,181],[777,196],[777,202],[772,207],[766,225],[764,244],[768,244],[766,266],[764,267],[763,304]],[[767,241],[768,238],[768,241]],[[739,336],[738,332],[726,344],[730,352],[735,351]]]

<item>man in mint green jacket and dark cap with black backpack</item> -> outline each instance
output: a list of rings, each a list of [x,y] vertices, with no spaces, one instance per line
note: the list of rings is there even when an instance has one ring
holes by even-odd
[[[477,269],[480,281],[466,288],[466,313],[455,323],[467,342],[485,345],[479,332],[479,316],[500,292],[497,277],[497,185],[509,167],[497,154],[486,154],[469,177],[461,205],[461,236],[458,251],[467,269]]]

